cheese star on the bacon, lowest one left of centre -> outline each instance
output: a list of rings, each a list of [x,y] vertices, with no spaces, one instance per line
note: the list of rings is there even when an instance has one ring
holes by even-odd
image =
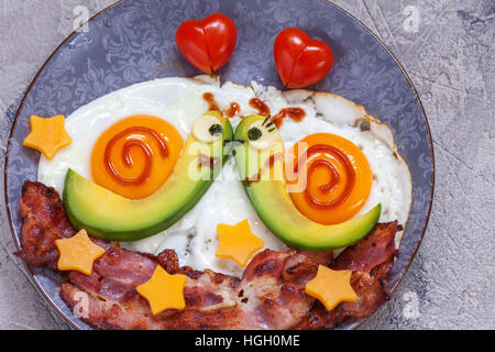
[[[157,315],[165,309],[184,309],[184,286],[187,276],[170,275],[165,270],[156,265],[153,276],[144,284],[136,287],[138,293],[146,298],[153,315]]]

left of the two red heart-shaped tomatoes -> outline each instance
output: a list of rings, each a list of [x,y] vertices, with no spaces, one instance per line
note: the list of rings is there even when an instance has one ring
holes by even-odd
[[[204,20],[189,20],[180,24],[175,41],[189,63],[211,74],[229,62],[235,48],[238,31],[227,15],[213,13]]]

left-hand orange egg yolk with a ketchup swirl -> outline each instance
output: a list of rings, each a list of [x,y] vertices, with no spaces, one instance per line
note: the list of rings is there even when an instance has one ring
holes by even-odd
[[[123,119],[96,142],[91,154],[92,178],[122,197],[145,198],[168,178],[183,145],[178,131],[160,118]]]

